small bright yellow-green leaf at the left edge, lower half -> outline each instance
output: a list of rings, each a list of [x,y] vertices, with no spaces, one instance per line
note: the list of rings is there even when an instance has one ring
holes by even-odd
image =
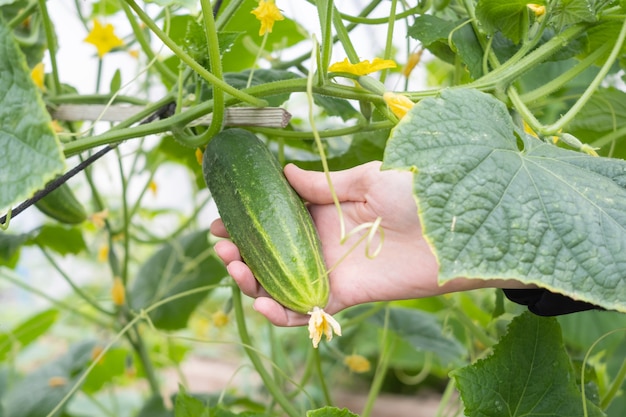
[[[45,310],[37,313],[15,326],[7,333],[0,333],[0,362],[7,355],[17,353],[45,334],[56,323],[57,310]]]

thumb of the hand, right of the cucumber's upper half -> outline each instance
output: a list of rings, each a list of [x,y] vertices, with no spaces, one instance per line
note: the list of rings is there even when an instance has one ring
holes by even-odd
[[[364,201],[374,173],[380,171],[380,162],[369,162],[344,171],[330,173],[331,182],[339,201]],[[293,164],[285,167],[285,176],[298,194],[313,204],[333,202],[328,180],[323,172],[307,171]]]

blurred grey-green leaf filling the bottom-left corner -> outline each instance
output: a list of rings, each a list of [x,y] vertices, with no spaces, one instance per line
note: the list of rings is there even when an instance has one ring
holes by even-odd
[[[53,362],[38,367],[6,393],[5,413],[11,417],[48,415],[78,383],[92,360],[95,343],[81,342]],[[61,407],[59,416],[65,406]]]

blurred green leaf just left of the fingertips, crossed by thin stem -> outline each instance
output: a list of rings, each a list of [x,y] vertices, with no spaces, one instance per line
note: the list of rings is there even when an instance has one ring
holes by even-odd
[[[209,245],[208,231],[201,230],[165,244],[137,273],[129,292],[132,307],[142,310],[168,297],[217,284],[226,269]],[[181,329],[210,289],[169,301],[150,312],[160,329]]]

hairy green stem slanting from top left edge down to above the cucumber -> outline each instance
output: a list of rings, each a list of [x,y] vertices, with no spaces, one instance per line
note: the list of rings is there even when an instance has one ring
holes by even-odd
[[[198,75],[200,75],[202,78],[204,78],[206,81],[208,81],[209,83],[211,83],[213,85],[214,88],[219,88],[221,90],[223,90],[225,93],[228,93],[230,95],[232,95],[233,97],[236,97],[237,99],[251,104],[253,106],[258,106],[258,107],[265,107],[267,105],[267,102],[265,100],[261,100],[258,99],[256,97],[253,97],[249,94],[246,94],[228,84],[226,84],[224,81],[220,80],[218,77],[216,77],[215,75],[211,74],[209,71],[207,71],[202,65],[200,65],[195,59],[193,59],[189,54],[187,54],[180,46],[178,46],[176,44],[176,42],[174,42],[172,40],[172,38],[170,38],[165,32],[163,32],[161,30],[161,28],[159,28],[157,26],[157,24],[154,22],[154,20],[152,20],[142,9],[141,7],[139,7],[139,5],[137,5],[137,3],[134,0],[125,0],[128,5],[133,9],[133,11],[137,14],[137,16],[139,16],[139,19],[141,19],[141,21],[148,27],[150,28],[150,30],[152,32],[154,32],[155,35],[157,35],[157,37],[159,39],[161,39],[161,41],[172,50],[172,52],[174,52],[174,54],[176,54],[176,56],[178,58],[180,58],[181,61],[183,61],[185,64],[189,65],[195,72],[198,73]]]

